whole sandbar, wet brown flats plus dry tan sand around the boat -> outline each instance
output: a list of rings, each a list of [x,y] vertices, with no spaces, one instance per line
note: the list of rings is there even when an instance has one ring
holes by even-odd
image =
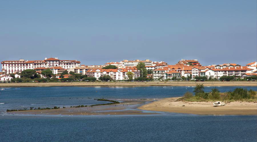
[[[225,106],[214,107],[212,102],[176,101],[180,97],[164,99],[128,99],[117,105],[100,105],[94,107],[72,107],[49,110],[12,111],[7,114],[17,115],[149,115],[178,113],[197,115],[257,115],[257,103],[230,102]]]

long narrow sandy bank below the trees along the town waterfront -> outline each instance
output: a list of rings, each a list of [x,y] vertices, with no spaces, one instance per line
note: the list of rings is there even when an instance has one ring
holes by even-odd
[[[257,86],[253,81],[234,81],[234,82],[47,82],[47,83],[0,83],[1,87],[50,87],[50,86],[85,86],[85,87],[132,87],[132,86]]]

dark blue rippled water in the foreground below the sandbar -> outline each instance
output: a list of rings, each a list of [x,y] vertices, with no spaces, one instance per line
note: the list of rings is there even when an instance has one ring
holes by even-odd
[[[0,116],[1,141],[256,141],[256,116]]]

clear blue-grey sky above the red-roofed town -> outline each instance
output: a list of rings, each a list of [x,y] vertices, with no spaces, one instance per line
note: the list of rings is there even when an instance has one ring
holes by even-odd
[[[256,0],[0,1],[0,61],[257,58]]]

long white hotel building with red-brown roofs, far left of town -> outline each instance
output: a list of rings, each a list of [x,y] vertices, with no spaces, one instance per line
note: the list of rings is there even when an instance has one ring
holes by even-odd
[[[74,68],[80,66],[80,61],[77,60],[59,60],[56,58],[45,58],[45,60],[10,60],[3,61],[2,64],[2,72],[6,74],[12,74],[15,72],[22,72],[27,69],[34,68],[50,68],[54,66],[59,66],[64,69]]]

